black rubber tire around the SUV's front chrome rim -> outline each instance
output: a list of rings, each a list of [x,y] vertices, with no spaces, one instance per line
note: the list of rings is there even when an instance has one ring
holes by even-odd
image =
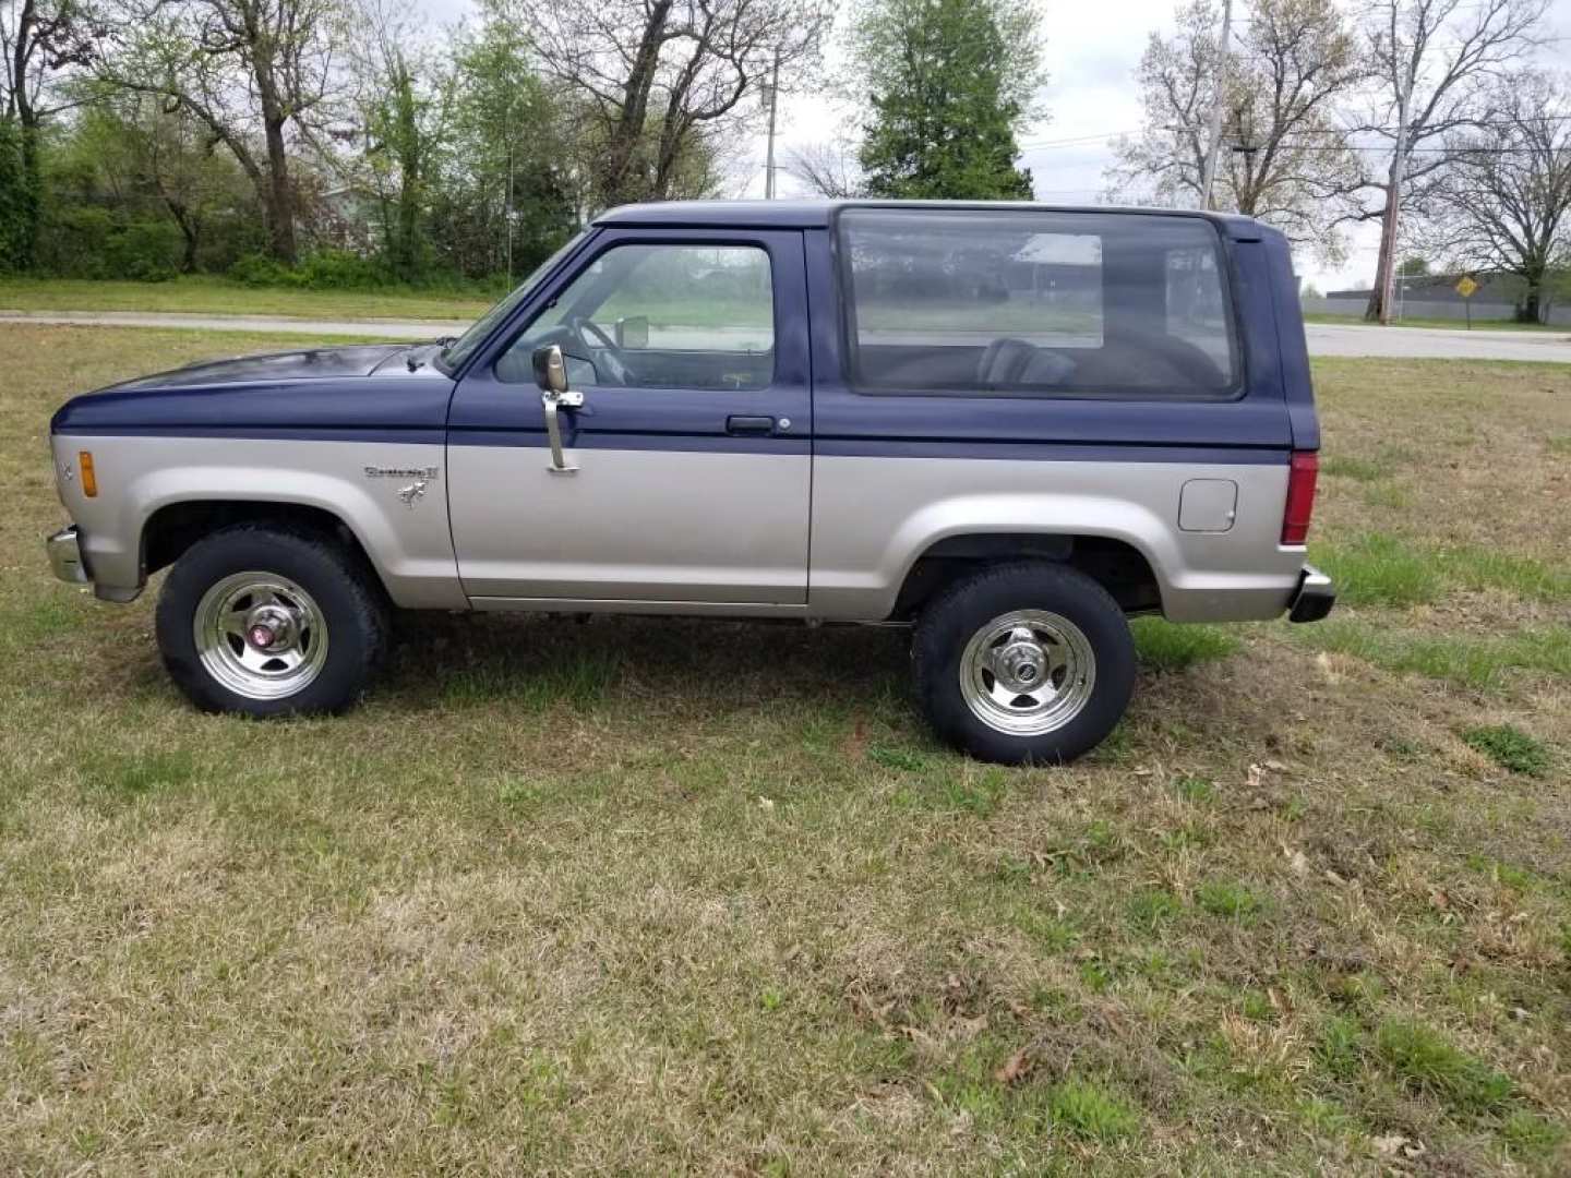
[[[195,625],[207,591],[237,573],[287,578],[320,613],[327,653],[298,691],[253,699],[220,682],[203,663]],[[203,537],[176,561],[159,597],[159,652],[170,677],[204,712],[255,718],[331,713],[353,707],[388,646],[388,603],[364,558],[328,532],[240,523]]]

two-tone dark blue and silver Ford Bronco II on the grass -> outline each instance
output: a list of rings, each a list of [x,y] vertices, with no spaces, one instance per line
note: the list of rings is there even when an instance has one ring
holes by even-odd
[[[204,363],[53,418],[55,570],[203,707],[355,702],[388,609],[913,627],[933,729],[1068,760],[1126,617],[1323,617],[1288,245],[1032,204],[613,209],[462,338]]]

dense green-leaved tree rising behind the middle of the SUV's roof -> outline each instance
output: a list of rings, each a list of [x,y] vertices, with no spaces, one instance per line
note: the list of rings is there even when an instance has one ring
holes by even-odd
[[[1029,0],[867,0],[850,41],[867,195],[1029,199],[1016,134],[1045,82],[1038,30]]]

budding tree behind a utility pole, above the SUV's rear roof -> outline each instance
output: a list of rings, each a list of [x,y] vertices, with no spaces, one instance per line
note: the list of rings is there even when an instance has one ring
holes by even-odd
[[[1356,39],[1332,0],[1252,0],[1232,46],[1222,104],[1222,160],[1213,206],[1258,217],[1327,261],[1340,261],[1338,196],[1359,176],[1335,107],[1362,80]],[[1213,0],[1153,33],[1136,69],[1139,135],[1114,143],[1109,188],[1155,204],[1199,204],[1218,101]]]

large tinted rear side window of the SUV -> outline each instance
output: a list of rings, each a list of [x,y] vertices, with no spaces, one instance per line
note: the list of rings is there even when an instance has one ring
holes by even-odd
[[[848,209],[864,391],[1227,397],[1236,346],[1210,223],[1137,214]]]

